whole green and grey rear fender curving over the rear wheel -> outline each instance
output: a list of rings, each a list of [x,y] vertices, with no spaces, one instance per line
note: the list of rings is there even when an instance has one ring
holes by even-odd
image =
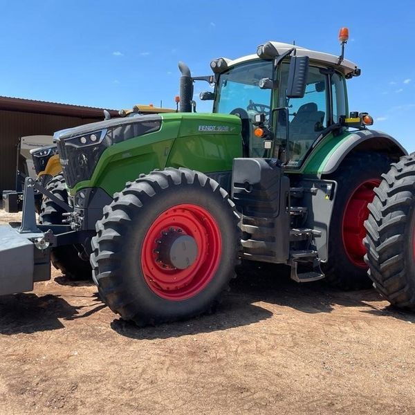
[[[338,136],[330,133],[317,144],[302,168],[292,173],[317,175],[321,178],[335,172],[351,151],[379,151],[387,154],[394,162],[408,154],[395,138],[381,131],[344,131]]]

